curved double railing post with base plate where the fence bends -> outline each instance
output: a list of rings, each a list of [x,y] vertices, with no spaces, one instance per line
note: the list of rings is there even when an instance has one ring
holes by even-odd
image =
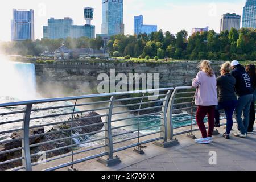
[[[163,107],[162,107],[162,114],[161,114],[161,130],[163,132],[161,132],[161,137],[163,137],[163,142],[155,142],[154,144],[160,146],[160,147],[172,147],[175,146],[177,144],[179,144],[179,142],[175,139],[173,140],[172,138],[169,139],[169,136],[172,135],[173,131],[172,131],[172,127],[171,127],[171,122],[170,119],[168,119],[168,115],[170,115],[170,105],[171,105],[171,97],[173,96],[172,90],[168,90],[167,92],[167,96],[164,98],[164,102],[163,102]],[[170,118],[170,117],[169,117]]]

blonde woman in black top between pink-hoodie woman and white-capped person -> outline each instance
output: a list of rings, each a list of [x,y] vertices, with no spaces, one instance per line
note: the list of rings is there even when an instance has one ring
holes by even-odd
[[[226,133],[223,134],[223,137],[226,139],[230,139],[229,134],[233,127],[233,113],[237,106],[237,97],[234,91],[236,78],[230,74],[231,70],[230,62],[222,64],[221,76],[217,78],[218,105],[216,106],[214,125],[220,127],[219,110],[224,109],[226,114]]]

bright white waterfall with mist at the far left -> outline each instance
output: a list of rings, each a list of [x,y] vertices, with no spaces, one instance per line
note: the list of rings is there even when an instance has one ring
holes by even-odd
[[[0,96],[15,100],[36,98],[35,65],[8,61],[0,55]]]

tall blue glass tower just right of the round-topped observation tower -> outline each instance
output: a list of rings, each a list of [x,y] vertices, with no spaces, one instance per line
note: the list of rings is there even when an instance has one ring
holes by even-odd
[[[123,0],[102,0],[101,34],[124,34]]]

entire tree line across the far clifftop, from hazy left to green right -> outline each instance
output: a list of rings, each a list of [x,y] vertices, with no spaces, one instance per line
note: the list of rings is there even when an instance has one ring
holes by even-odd
[[[37,39],[35,42],[2,42],[0,49],[3,53],[39,56],[44,51],[54,52],[61,44],[69,49],[104,47],[104,41],[96,39],[67,38],[67,39]],[[255,60],[256,29],[241,28],[223,31],[220,34],[210,30],[197,32],[188,38],[188,32],[181,30],[176,35],[169,31],[152,32],[139,35],[114,35],[106,45],[107,51],[115,57],[147,58],[165,57],[189,60]]]

